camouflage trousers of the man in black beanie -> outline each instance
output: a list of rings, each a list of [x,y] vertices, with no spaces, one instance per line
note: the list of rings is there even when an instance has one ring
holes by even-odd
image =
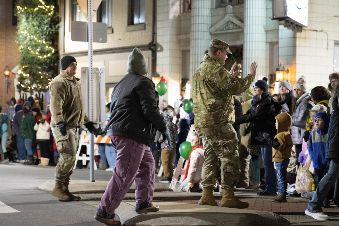
[[[69,176],[73,173],[73,167],[78,150],[79,129],[66,127],[67,134],[62,135],[57,126],[52,127],[52,133],[59,152],[58,164],[55,167],[54,180],[61,183],[69,183]]]

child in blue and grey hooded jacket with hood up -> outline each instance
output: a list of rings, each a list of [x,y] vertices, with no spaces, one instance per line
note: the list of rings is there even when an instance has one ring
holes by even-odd
[[[314,167],[314,187],[317,188],[321,178],[326,174],[326,140],[327,130],[330,124],[330,118],[327,113],[318,113],[315,116],[314,126],[316,130],[312,130],[308,140],[308,154],[310,155]],[[324,200],[324,206],[330,206],[330,192]]]

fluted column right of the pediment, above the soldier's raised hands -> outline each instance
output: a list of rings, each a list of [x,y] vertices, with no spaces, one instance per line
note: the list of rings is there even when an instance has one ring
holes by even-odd
[[[257,61],[256,80],[268,76],[266,44],[266,0],[245,0],[243,75]],[[267,77],[268,78],[268,77]],[[268,78],[269,79],[269,78]]]

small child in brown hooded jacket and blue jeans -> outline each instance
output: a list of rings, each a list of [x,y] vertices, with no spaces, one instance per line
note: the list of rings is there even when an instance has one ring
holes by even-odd
[[[292,126],[292,118],[288,113],[278,114],[275,119],[277,135],[273,138],[270,134],[264,133],[263,137],[267,144],[273,147],[272,149],[272,161],[275,162],[278,178],[278,191],[274,198],[271,198],[273,202],[285,203],[286,201],[286,189],[287,189],[287,167],[290,163],[291,150],[292,150],[292,137],[290,129]]]

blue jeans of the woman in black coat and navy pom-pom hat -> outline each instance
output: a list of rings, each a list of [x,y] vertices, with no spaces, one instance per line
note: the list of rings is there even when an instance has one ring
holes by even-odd
[[[272,146],[268,144],[261,145],[262,162],[265,167],[265,190],[268,193],[276,193],[276,174],[272,162]]]

